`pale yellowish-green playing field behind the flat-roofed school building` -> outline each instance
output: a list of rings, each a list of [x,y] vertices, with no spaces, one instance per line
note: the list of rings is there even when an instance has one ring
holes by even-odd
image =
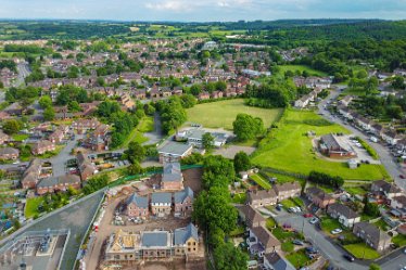
[[[283,111],[281,108],[261,108],[244,105],[243,99],[225,100],[198,104],[187,110],[188,121],[201,124],[206,128],[225,128],[232,130],[232,123],[240,113],[261,117],[266,128],[276,121]]]

